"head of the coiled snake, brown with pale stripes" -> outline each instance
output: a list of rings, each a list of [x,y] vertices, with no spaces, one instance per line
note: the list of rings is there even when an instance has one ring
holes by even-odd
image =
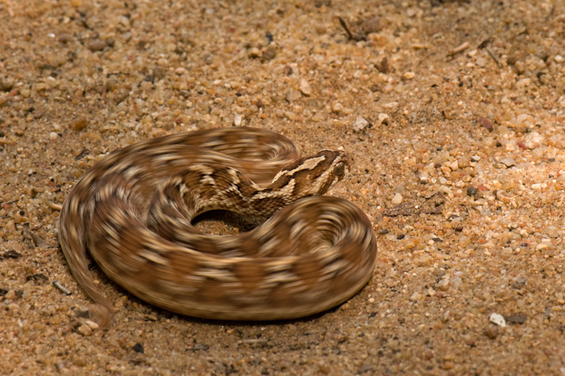
[[[273,188],[292,187],[295,198],[323,195],[349,172],[350,157],[340,150],[322,150],[298,159],[273,178]]]

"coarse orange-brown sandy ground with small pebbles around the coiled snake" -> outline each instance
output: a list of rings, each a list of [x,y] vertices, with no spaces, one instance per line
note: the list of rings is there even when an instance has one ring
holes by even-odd
[[[0,372],[565,374],[564,11],[0,1]],[[352,153],[332,194],[371,218],[374,277],[330,312],[240,323],[167,313],[95,269],[117,315],[88,330],[52,203],[109,151],[232,124]]]

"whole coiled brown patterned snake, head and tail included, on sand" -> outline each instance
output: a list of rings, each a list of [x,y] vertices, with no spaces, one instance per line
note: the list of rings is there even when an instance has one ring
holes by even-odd
[[[87,249],[111,279],[176,313],[311,315],[350,298],[376,262],[367,216],[347,200],[314,197],[348,169],[344,152],[300,158],[290,140],[255,128],[138,142],[102,159],[71,190],[61,246],[78,284],[102,307],[102,324],[112,308],[93,283]],[[218,209],[272,217],[236,236],[192,226],[198,214]]]

